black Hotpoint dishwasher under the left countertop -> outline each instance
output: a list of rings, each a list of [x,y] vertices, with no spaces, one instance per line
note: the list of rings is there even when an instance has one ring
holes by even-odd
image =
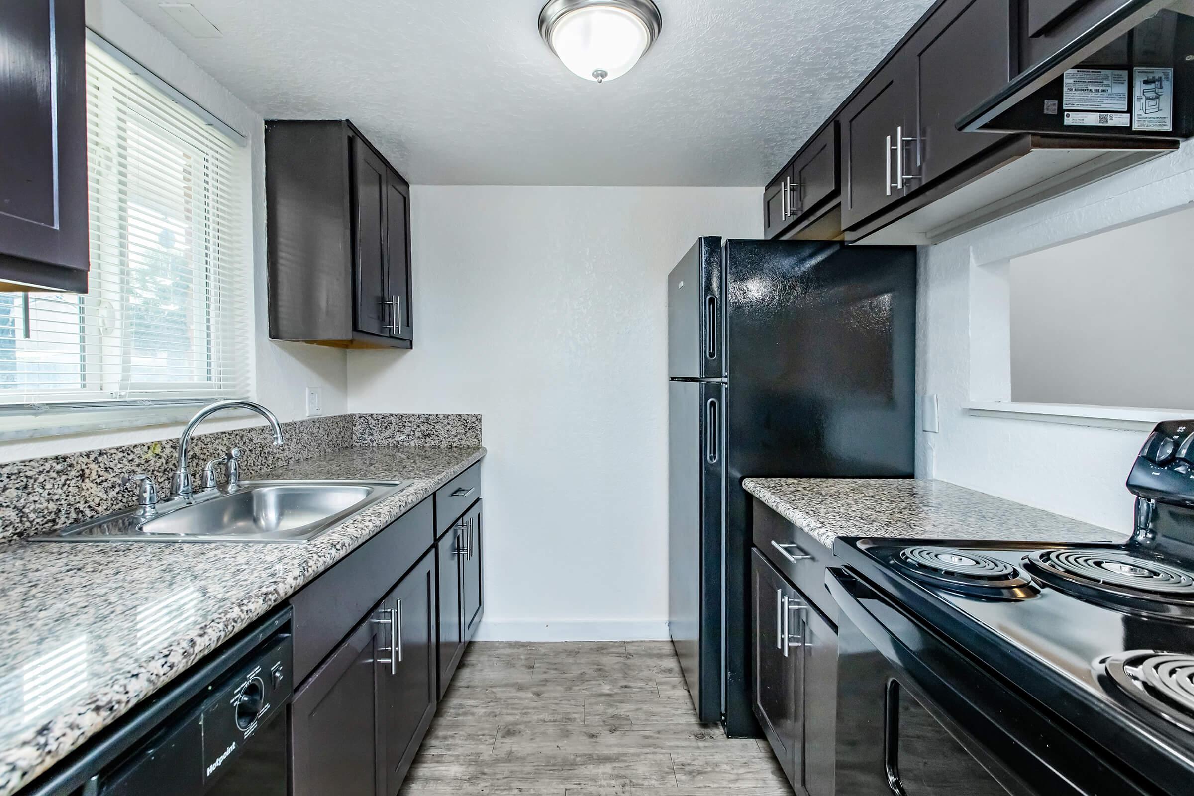
[[[287,796],[289,619],[285,609],[201,662],[30,796]]]

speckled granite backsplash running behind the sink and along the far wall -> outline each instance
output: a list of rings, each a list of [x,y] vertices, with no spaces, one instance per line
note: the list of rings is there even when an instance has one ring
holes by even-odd
[[[241,477],[288,467],[355,445],[455,446],[481,444],[479,414],[358,414],[282,424],[287,442],[275,448],[263,425],[198,433],[189,452],[198,479],[208,459],[240,448]],[[177,437],[0,464],[0,539],[20,538],[130,506],[133,487],[121,477],[144,473],[165,498],[178,456]]]

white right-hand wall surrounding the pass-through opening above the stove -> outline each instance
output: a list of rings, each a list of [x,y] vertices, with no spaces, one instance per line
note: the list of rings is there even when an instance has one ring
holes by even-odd
[[[938,395],[941,432],[918,436],[917,474],[1131,530],[1132,499],[1124,481],[1145,432],[972,415],[962,408],[972,397],[1008,397],[972,395],[1007,377],[993,366],[972,376],[972,354],[983,362],[1007,347],[1005,338],[991,339],[993,323],[984,313],[992,311],[991,273],[1005,269],[1010,258],[1192,202],[1194,142],[1187,142],[1177,153],[922,249],[918,391]],[[1133,283],[1130,289],[1173,285]]]

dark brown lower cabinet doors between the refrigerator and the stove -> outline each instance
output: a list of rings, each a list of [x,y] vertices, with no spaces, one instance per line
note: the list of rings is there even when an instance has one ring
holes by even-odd
[[[798,794],[832,796],[837,631],[758,551],[751,551],[753,708]]]

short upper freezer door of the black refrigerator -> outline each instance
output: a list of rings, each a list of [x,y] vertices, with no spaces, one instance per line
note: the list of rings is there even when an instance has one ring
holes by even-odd
[[[700,237],[667,274],[667,375],[721,378],[721,239]]]

